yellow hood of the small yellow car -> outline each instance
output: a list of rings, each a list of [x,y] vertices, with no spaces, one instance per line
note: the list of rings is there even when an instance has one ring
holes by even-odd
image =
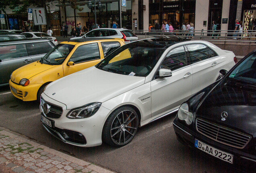
[[[45,70],[49,70],[50,68],[54,68],[54,67],[56,67],[56,65],[52,66],[48,64],[41,64],[41,62],[39,61],[32,62],[12,72],[11,80],[15,83],[19,83],[19,81],[23,78],[29,79]]]

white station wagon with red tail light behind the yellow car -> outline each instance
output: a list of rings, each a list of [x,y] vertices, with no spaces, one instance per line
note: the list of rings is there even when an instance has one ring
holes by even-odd
[[[70,38],[70,40],[86,38],[86,37],[109,37],[109,38],[122,38],[125,43],[138,40],[138,37],[128,29],[124,28],[99,28],[87,32],[80,37]]]

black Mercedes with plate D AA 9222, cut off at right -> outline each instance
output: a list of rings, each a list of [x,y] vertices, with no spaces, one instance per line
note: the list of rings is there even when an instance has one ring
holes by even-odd
[[[184,102],[173,128],[180,142],[256,172],[256,50]]]

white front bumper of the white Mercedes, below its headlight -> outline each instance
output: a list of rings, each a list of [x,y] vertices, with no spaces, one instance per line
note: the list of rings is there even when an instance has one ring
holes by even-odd
[[[43,123],[43,127],[50,134],[60,139],[64,143],[79,147],[94,147],[102,144],[101,134],[105,120],[111,113],[109,109],[101,106],[97,113],[89,118],[68,119],[66,115],[70,110],[66,109],[66,105],[47,97],[44,93],[42,93],[41,97],[45,100],[45,102],[51,103],[52,105],[58,105],[59,107],[62,107],[63,110],[60,118],[50,118],[43,113],[40,104],[39,107],[42,116],[54,121],[54,126],[52,128]],[[74,140],[76,138],[78,140]]]

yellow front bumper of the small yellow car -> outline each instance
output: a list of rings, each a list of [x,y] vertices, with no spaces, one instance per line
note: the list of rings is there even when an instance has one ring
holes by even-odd
[[[24,87],[9,80],[9,86],[14,97],[17,97],[23,101],[35,101],[37,100],[37,91],[42,84],[29,84],[28,86]],[[13,89],[16,89],[17,92],[14,93]]]

